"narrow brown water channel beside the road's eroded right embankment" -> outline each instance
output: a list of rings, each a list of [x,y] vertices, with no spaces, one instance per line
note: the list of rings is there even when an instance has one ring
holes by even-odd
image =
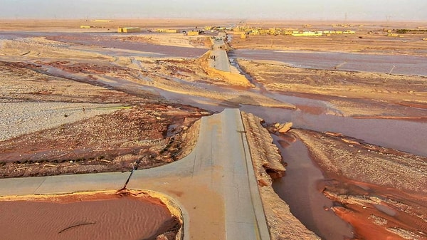
[[[275,135],[273,139],[288,163],[285,177],[274,182],[273,188],[289,204],[290,212],[322,239],[351,238],[352,227],[332,212],[330,207],[334,204],[317,189],[317,183],[324,177],[313,165],[305,145],[297,140],[285,147],[288,145],[285,139]]]

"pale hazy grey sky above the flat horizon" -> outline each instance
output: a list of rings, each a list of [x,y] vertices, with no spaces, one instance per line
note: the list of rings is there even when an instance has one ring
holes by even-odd
[[[0,0],[0,19],[427,21],[427,0]]]

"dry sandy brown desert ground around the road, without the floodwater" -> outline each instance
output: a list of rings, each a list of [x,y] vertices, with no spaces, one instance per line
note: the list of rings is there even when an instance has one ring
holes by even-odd
[[[209,68],[204,52],[209,51],[211,36],[115,33],[117,26],[189,29],[228,26],[235,21],[0,23],[0,104],[4,116],[0,125],[1,177],[129,171],[132,167],[167,164],[191,151],[198,132],[196,120],[226,107],[274,110],[277,115],[280,111],[300,111],[402,120],[424,127],[427,120],[425,75],[307,69],[278,61],[237,59],[242,74],[248,77],[242,83]],[[87,24],[95,28],[79,28]],[[302,29],[308,23],[245,24]],[[330,26],[311,24],[311,29]],[[233,37],[230,46],[425,58],[427,41],[422,38],[426,33],[406,34],[404,38],[384,35],[384,29],[418,27],[426,28],[419,23],[355,23],[352,28],[357,33],[351,36]],[[115,45],[110,46],[111,42]],[[172,47],[170,51],[181,57],[147,56],[145,51],[138,51],[147,44],[153,51],[157,48],[152,46],[162,46],[162,51],[164,46]],[[187,56],[194,49],[200,51],[199,56]],[[277,95],[321,100],[333,108],[291,104],[275,98]],[[293,129],[278,133],[274,123],[265,122],[264,126],[287,140],[278,146],[280,150],[285,151],[295,140],[304,142],[312,162],[325,176],[317,191],[336,204],[325,211],[332,210],[352,225],[351,239],[427,239],[426,155],[401,152],[333,131]],[[268,151],[278,154],[274,149]],[[267,185],[271,181],[260,180]],[[283,228],[278,221],[270,224],[274,222],[275,229]],[[317,238],[306,230],[302,226],[300,231],[305,231],[307,239]],[[285,230],[275,236],[292,239],[291,234],[297,236],[295,231]]]

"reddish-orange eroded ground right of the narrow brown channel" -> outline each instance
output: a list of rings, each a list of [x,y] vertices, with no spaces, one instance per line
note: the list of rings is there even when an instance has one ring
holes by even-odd
[[[427,237],[427,159],[330,132],[291,130],[322,169],[318,186],[361,239]]]

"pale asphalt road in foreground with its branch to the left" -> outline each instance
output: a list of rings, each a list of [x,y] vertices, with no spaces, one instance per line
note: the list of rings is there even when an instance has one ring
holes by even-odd
[[[128,189],[162,192],[181,207],[184,239],[270,239],[238,109],[201,119],[190,155],[137,170]],[[127,173],[0,179],[0,196],[120,189]]]

